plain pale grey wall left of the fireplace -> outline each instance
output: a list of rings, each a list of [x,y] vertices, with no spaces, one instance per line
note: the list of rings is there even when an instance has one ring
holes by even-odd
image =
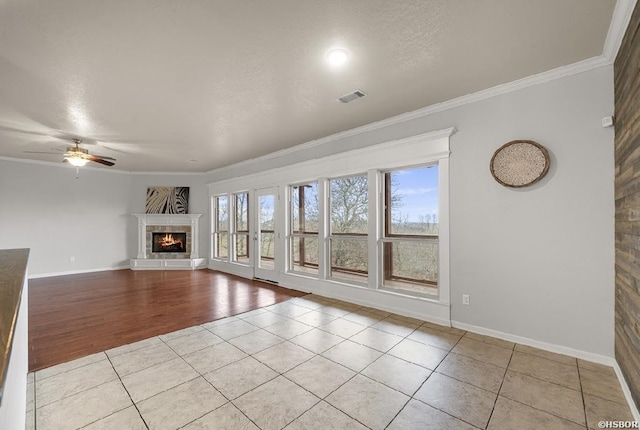
[[[0,160],[0,248],[30,248],[36,276],[127,265],[130,188],[128,174],[81,169],[76,179],[62,164]]]

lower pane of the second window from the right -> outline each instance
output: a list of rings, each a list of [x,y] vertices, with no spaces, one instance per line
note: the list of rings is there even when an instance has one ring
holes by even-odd
[[[331,238],[331,277],[367,282],[366,240]]]

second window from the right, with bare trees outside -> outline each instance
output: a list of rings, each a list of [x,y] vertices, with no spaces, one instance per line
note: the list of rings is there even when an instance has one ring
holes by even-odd
[[[331,179],[330,277],[366,283],[368,277],[367,176]]]

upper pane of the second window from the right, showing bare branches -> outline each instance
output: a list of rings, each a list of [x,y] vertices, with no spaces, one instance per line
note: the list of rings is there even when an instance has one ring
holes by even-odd
[[[331,181],[331,234],[367,234],[367,177]]]

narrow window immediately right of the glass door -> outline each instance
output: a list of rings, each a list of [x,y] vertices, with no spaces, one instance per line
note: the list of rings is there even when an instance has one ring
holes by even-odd
[[[318,183],[290,187],[289,268],[318,275]]]

